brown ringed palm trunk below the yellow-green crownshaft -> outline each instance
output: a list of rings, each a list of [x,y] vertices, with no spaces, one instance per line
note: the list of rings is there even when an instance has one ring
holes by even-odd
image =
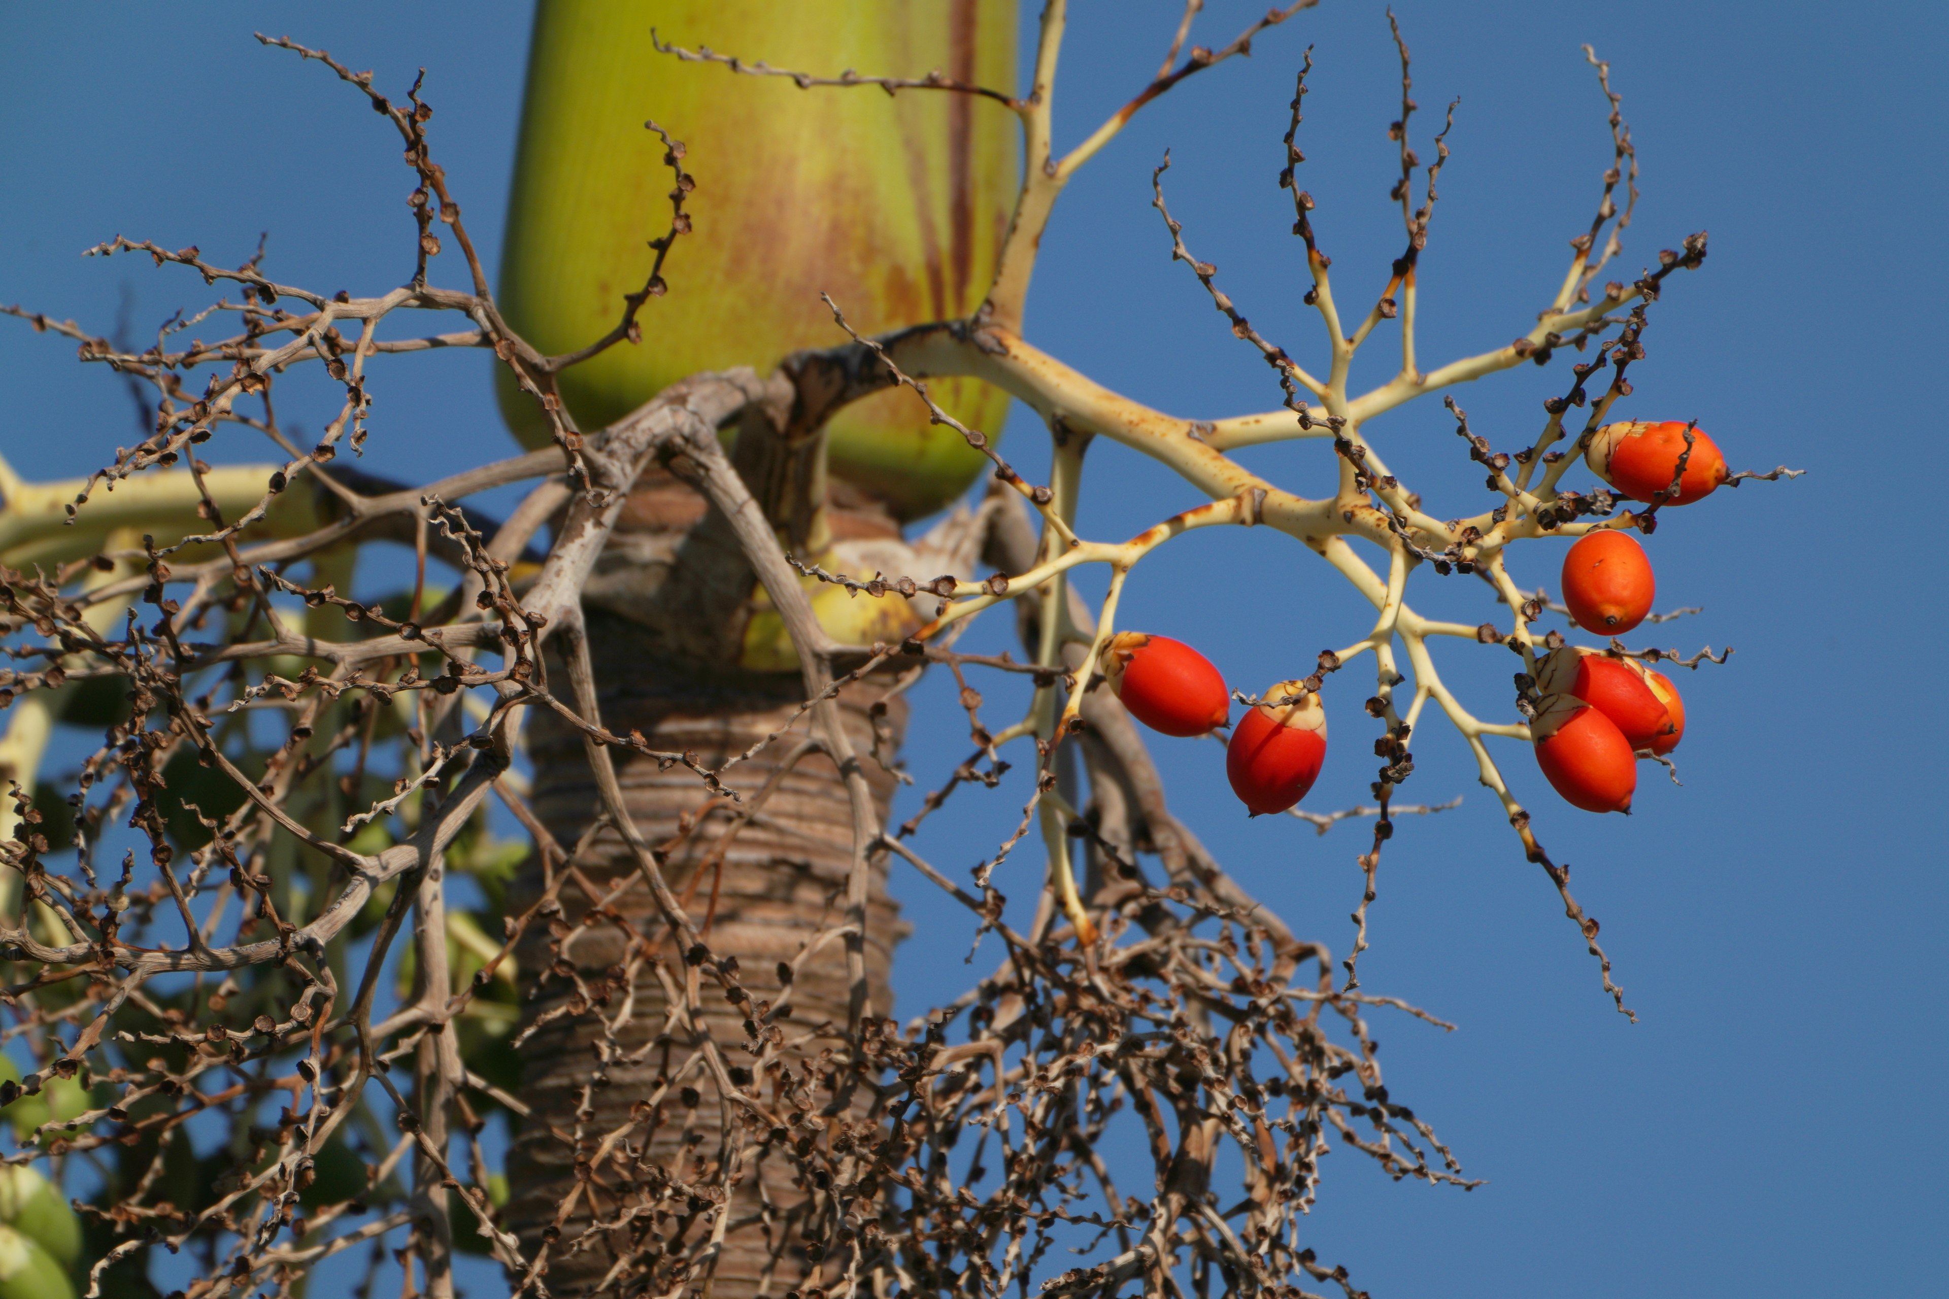
[[[659,586],[659,602],[665,610],[672,604],[694,610],[696,590],[674,588],[686,565],[692,576],[700,567],[696,551],[711,549],[706,543],[709,520],[698,518],[702,501],[686,504],[669,479],[649,483],[637,497],[659,516],[639,520],[637,539],[641,524],[653,522],[667,536],[680,530],[684,541],[676,549],[692,553],[690,561],[672,561],[667,580],[651,580]],[[694,526],[682,526],[692,518]],[[618,549],[630,549],[628,536]],[[750,590],[748,578],[743,590]],[[618,734],[641,730],[653,748],[686,752],[702,765],[719,767],[793,721],[803,699],[797,676],[700,666],[694,652],[682,652],[694,645],[672,647],[674,629],[643,621],[641,613],[641,606],[637,617],[589,610],[604,726]],[[682,635],[690,639],[706,623],[692,621]],[[552,668],[550,680],[563,678]],[[865,682],[848,689],[840,705],[856,750],[871,754],[877,740],[877,752],[891,763],[906,709],[893,699],[885,717],[875,719],[869,709],[883,693],[885,686]],[[803,742],[807,732],[807,719],[799,715],[787,734],[725,775],[741,804],[713,797],[684,765],[661,767],[618,754],[630,816],[643,839],[663,849],[665,878],[686,898],[692,919],[704,927],[709,917],[711,950],[737,958],[739,978],[752,997],[774,1007],[789,997],[789,1017],[774,1017],[789,1044],[787,1061],[842,1046],[848,1022],[846,943],[832,937],[811,952],[807,945],[844,923],[852,814],[838,769]],[[534,810],[561,845],[573,847],[598,808],[583,740],[559,719],[540,717],[530,744]],[[885,814],[895,779],[871,758],[863,761]],[[768,785],[774,787],[764,793]],[[540,985],[522,1017],[532,1032],[522,1044],[520,1093],[532,1116],[522,1122],[509,1161],[515,1194],[507,1223],[530,1258],[548,1246],[546,1283],[555,1295],[674,1291],[682,1278],[669,1274],[670,1258],[709,1227],[698,1219],[696,1211],[706,1206],[696,1200],[686,1217],[684,1198],[669,1196],[670,1182],[707,1186],[727,1159],[750,1161],[770,1133],[739,1128],[725,1141],[713,1089],[700,1087],[704,1079],[694,1063],[684,1073],[694,1052],[686,1030],[667,1022],[670,999],[649,962],[649,956],[661,960],[670,987],[682,989],[684,954],[657,915],[620,835],[600,830],[577,857],[577,871],[579,876],[571,872],[561,886],[561,913],[552,917],[552,933],[530,931],[522,952],[522,968],[538,970]],[[520,884],[528,898],[548,886],[540,859],[530,861]],[[591,890],[598,896],[622,892],[585,927]],[[898,937],[898,909],[887,896],[885,869],[877,869],[865,933],[875,1015],[891,1011],[887,976]],[[635,964],[622,978],[631,958]],[[789,993],[782,966],[797,966]],[[750,1065],[745,1011],[713,995],[704,997],[704,1026],[721,1044],[725,1061]],[[698,1091],[686,1091],[692,1087]],[[758,1087],[770,1096],[776,1079],[760,1079]],[[641,1122],[645,1102],[655,1104],[647,1128]],[[631,1114],[639,1118],[628,1133],[633,1153],[591,1167],[600,1141],[626,1128]],[[803,1200],[782,1157],[758,1157],[756,1170],[745,1169],[721,1248],[707,1264],[713,1297],[783,1293],[797,1285],[807,1262],[785,1244],[785,1227]],[[657,1206],[657,1211],[631,1217],[630,1209],[643,1206]],[[585,1235],[596,1219],[626,1225]],[[645,1285],[651,1280],[655,1283]],[[704,1281],[702,1276],[690,1280]]]

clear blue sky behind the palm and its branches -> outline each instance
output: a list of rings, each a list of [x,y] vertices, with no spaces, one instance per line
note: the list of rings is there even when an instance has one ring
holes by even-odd
[[[926,2],[926,0],[916,0]],[[647,6],[653,8],[653,6]],[[1197,39],[1218,45],[1263,0],[1212,0]],[[1177,6],[1078,0],[1058,93],[1058,144],[1076,140],[1156,68]],[[1464,795],[1405,820],[1388,847],[1362,984],[1454,1021],[1452,1034],[1376,1017],[1397,1100],[1454,1147],[1473,1194],[1390,1184],[1357,1153],[1327,1161],[1312,1219],[1323,1260],[1378,1297],[1643,1293],[1941,1293],[1949,1223],[1935,1108],[1949,1067],[1941,999],[1945,625],[1939,395],[1945,333],[1935,247],[1945,210],[1935,92],[1949,19],[1939,4],[1631,6],[1399,0],[1425,136],[1460,95],[1442,204],[1423,259],[1425,364],[1526,331],[1588,224],[1608,166],[1604,101],[1579,45],[1612,62],[1643,166],[1643,201],[1614,267],[1633,278],[1696,230],[1711,257],[1657,304],[1633,368],[1637,419],[1698,419],[1735,467],[1809,469],[1672,510],[1647,547],[1659,604],[1700,617],[1633,643],[1733,643],[1725,668],[1684,674],[1684,789],[1655,771],[1637,814],[1555,802],[1518,746],[1499,754],[1538,832],[1575,863],[1602,921],[1627,1024],[1542,871],[1522,861],[1462,742],[1431,719],[1403,798]],[[1025,4],[1033,19],[1033,4]],[[427,66],[433,144],[489,263],[499,259],[518,113],[526,4],[45,6],[0,2],[0,302],[138,335],[203,284],[140,259],[84,261],[117,232],[199,243],[238,263],[269,230],[269,269],[314,288],[382,292],[411,273],[409,189],[398,138],[316,64],[263,51],[251,29],[329,47],[401,93]],[[1150,169],[1169,146],[1173,214],[1253,321],[1302,360],[1319,354],[1300,304],[1304,263],[1275,187],[1300,51],[1312,43],[1302,185],[1335,257],[1343,300],[1386,278],[1399,218],[1386,203],[1397,68],[1382,8],[1325,0],[1265,33],[1249,60],[1193,78],[1146,109],[1064,197],[1037,271],[1029,335],[1156,407],[1199,417],[1269,409],[1279,390],[1169,261]],[[1025,47],[1027,49],[1027,47]],[[1027,58],[1027,55],[1025,55]],[[721,76],[715,70],[698,70]],[[682,134],[682,123],[672,123]],[[709,158],[692,158],[709,183]],[[464,284],[456,255],[435,263]],[[670,269],[682,292],[680,253]],[[1382,378],[1380,341],[1370,376]],[[0,448],[29,477],[86,473],[133,440],[133,405],[72,345],[0,321]],[[1499,448],[1534,438],[1565,358],[1458,393]],[[419,479],[513,448],[476,354],[413,356],[378,372],[366,465]],[[292,409],[308,428],[325,405]],[[1019,411],[1017,411],[1019,415]],[[1450,419],[1421,403],[1368,428],[1390,465],[1442,516],[1481,508],[1479,471]],[[1047,438],[1015,419],[1029,471]],[[216,458],[255,460],[232,438]],[[1154,464],[1111,446],[1078,530],[1123,538],[1193,504]],[[1331,450],[1243,460],[1321,495]],[[1571,475],[1583,485],[1586,475]],[[1559,553],[1522,547],[1526,586],[1555,586]],[[1473,580],[1421,575],[1419,608],[1495,615]],[[1245,689],[1298,676],[1370,613],[1314,555],[1269,530],[1212,530],[1167,547],[1132,580],[1125,625],[1195,639]],[[1000,649],[996,621],[965,645]],[[1507,711],[1510,656],[1438,649],[1446,680],[1483,715]],[[1368,668],[1357,672],[1364,678]],[[951,686],[920,691],[908,760],[922,785],[963,756]],[[1308,806],[1366,797],[1366,682],[1329,689],[1335,754]],[[1006,691],[992,691],[1004,717]],[[1173,798],[1218,857],[1304,937],[1343,952],[1358,902],[1358,828],[1316,837],[1286,818],[1247,822],[1212,744],[1154,744]],[[943,869],[990,853],[1021,787],[957,797],[924,839]],[[904,814],[904,812],[902,812]],[[1027,851],[998,880],[1027,898]],[[963,950],[959,911],[898,876],[916,939],[897,962],[900,1011],[986,974],[928,952]],[[984,948],[978,962],[994,956]],[[485,1274],[470,1274],[489,1293]],[[1930,1278],[1935,1278],[1933,1281]]]

